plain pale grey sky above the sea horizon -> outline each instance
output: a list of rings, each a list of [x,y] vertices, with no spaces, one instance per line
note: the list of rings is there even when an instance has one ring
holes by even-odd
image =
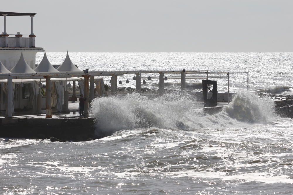
[[[292,7],[292,0],[9,0],[0,11],[37,13],[36,47],[47,52],[293,52]],[[29,16],[6,21],[8,34],[30,34]]]

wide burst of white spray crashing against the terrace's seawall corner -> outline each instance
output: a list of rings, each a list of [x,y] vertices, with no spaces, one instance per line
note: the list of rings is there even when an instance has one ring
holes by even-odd
[[[104,97],[95,99],[91,116],[98,120],[98,128],[114,132],[132,128],[176,128],[184,127],[180,121],[186,112],[194,112],[198,104],[194,97],[185,93],[171,93],[153,100],[137,93],[126,98]]]

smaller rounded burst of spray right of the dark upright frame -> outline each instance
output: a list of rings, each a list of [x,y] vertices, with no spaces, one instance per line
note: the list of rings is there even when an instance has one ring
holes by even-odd
[[[231,118],[241,122],[267,123],[274,116],[274,102],[270,99],[260,100],[249,91],[240,91],[225,110]]]

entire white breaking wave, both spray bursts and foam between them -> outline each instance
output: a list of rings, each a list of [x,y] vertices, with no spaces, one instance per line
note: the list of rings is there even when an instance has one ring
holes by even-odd
[[[134,128],[205,129],[209,127],[245,126],[266,123],[273,116],[272,100],[260,100],[250,92],[241,91],[221,112],[209,115],[194,95],[170,93],[155,99],[132,93],[122,97],[93,100],[90,115],[97,119],[97,128],[109,134]]]

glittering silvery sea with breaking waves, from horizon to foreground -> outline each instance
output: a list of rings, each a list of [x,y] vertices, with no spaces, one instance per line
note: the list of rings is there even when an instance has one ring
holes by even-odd
[[[62,64],[65,56],[47,53],[51,64]],[[96,129],[110,136],[86,142],[0,138],[0,194],[293,194],[293,119],[278,117],[274,100],[265,96],[293,95],[293,53],[69,56],[90,71],[249,72],[249,90],[247,74],[229,75],[233,100],[209,115],[166,74],[171,91],[161,97],[132,93],[93,101]],[[38,53],[36,63],[42,57]],[[135,88],[133,76],[118,76],[118,87]],[[158,90],[158,75],[142,77],[142,88]],[[227,92],[227,78],[214,79],[218,91]],[[104,77],[105,84],[109,80]],[[200,91],[201,79],[186,79],[186,85]]]

